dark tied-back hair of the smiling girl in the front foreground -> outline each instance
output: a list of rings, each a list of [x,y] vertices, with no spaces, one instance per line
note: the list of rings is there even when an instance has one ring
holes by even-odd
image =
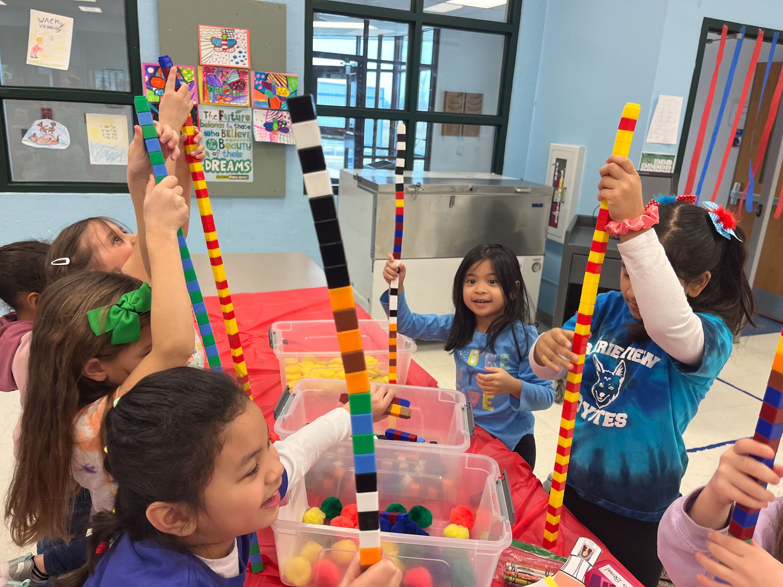
[[[60,579],[58,587],[84,585],[103,556],[96,553],[99,544],[126,534],[185,550],[150,524],[147,507],[169,502],[200,511],[226,427],[249,405],[229,376],[189,367],[148,375],[124,394],[103,422],[104,466],[117,484],[114,513],[93,519],[87,564]]]

